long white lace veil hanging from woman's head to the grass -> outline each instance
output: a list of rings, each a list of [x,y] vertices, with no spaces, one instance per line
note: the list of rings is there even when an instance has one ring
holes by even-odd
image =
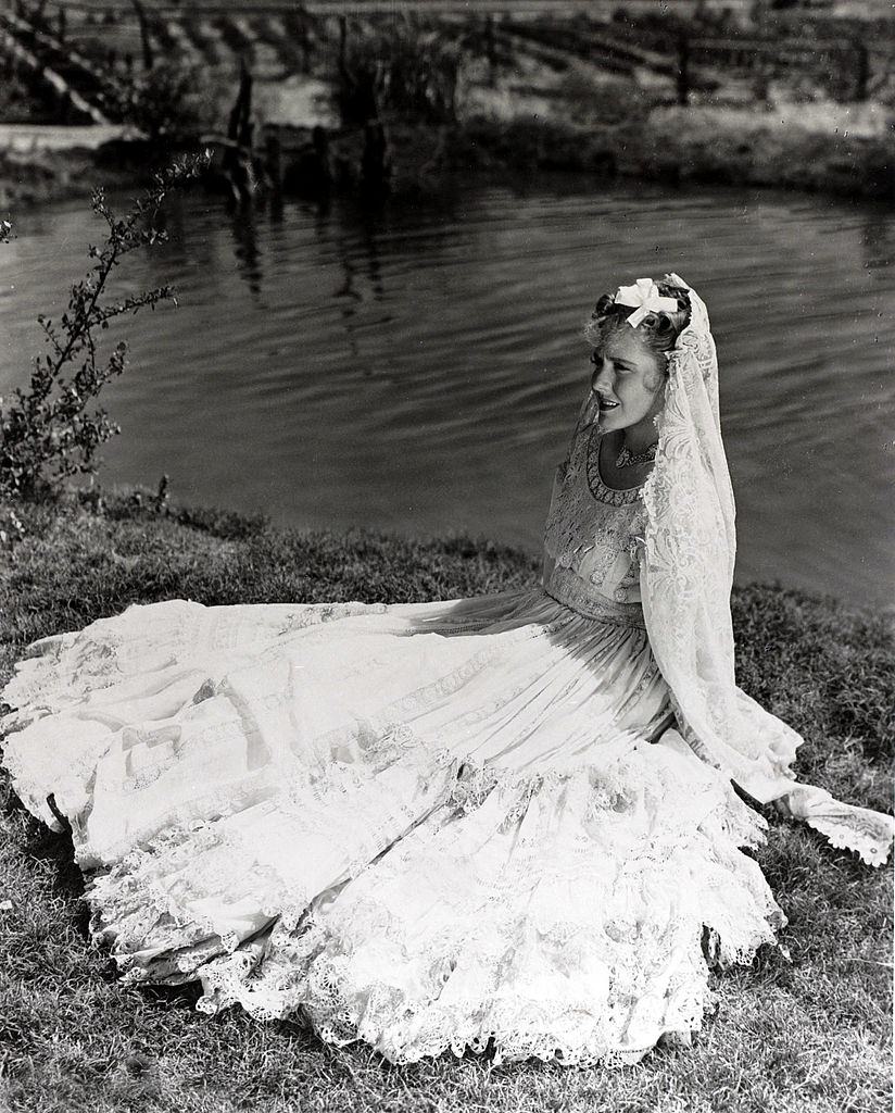
[[[803,741],[737,687],[730,588],[734,495],[718,414],[718,363],[705,304],[684,287],[690,319],[668,353],[659,440],[643,498],[647,526],[640,589],[653,653],[672,690],[687,745],[762,804],[785,800],[837,847],[872,865],[888,853],[895,823],[835,800],[790,772]]]

